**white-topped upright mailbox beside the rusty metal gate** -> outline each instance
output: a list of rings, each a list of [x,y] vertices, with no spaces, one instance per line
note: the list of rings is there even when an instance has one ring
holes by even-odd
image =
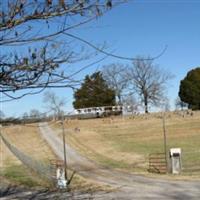
[[[172,174],[180,174],[181,172],[181,148],[170,149],[171,171]]]

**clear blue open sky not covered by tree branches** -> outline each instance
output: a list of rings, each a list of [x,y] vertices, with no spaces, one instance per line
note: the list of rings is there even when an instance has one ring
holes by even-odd
[[[180,80],[189,70],[200,66],[199,24],[200,0],[130,0],[82,27],[76,35],[94,44],[106,42],[114,54],[125,57],[157,56],[167,46],[165,53],[154,63],[175,75],[167,88],[173,109]],[[88,68],[79,77],[83,78],[111,63],[131,64],[129,61],[109,57]],[[65,99],[66,112],[73,110],[71,89],[53,91]],[[6,116],[14,117],[31,109],[45,112],[43,95],[26,96],[17,101],[1,103],[0,107]]]

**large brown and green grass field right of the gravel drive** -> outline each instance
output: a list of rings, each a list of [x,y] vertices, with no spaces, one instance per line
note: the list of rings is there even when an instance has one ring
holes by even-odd
[[[53,126],[61,134],[59,124]],[[98,163],[147,173],[150,153],[164,152],[161,114],[65,122],[67,141]],[[167,149],[182,149],[184,175],[200,174],[200,113],[166,114]]]

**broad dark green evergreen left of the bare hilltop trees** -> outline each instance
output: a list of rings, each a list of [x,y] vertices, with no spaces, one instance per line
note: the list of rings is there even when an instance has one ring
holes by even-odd
[[[81,88],[74,93],[74,108],[115,105],[115,91],[110,89],[101,72],[87,75]]]

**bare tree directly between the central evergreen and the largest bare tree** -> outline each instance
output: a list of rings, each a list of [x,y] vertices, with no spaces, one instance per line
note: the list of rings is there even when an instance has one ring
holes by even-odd
[[[127,66],[123,64],[110,64],[103,67],[103,77],[108,86],[116,93],[118,104],[122,104],[122,94],[128,86],[126,76]]]

